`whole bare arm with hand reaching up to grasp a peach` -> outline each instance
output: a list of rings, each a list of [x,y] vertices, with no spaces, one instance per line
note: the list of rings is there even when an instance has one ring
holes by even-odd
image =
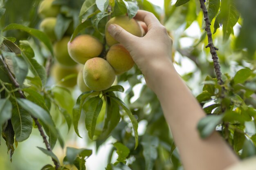
[[[128,49],[159,98],[185,170],[223,170],[237,163],[238,158],[217,132],[200,138],[196,126],[205,113],[173,67],[172,40],[164,26],[147,11],[139,10],[135,18],[146,23],[148,32],[143,38],[118,25],[110,25],[108,31]]]

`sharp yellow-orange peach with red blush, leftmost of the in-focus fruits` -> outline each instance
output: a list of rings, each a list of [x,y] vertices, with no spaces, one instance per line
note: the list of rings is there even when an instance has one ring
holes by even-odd
[[[103,45],[91,35],[79,35],[68,43],[67,49],[75,62],[85,64],[90,58],[98,57],[101,54]]]

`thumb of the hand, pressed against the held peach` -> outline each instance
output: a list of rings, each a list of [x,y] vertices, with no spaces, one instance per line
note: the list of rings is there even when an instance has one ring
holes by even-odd
[[[124,46],[128,46],[128,43],[132,39],[136,38],[135,35],[127,32],[125,29],[117,24],[110,24],[110,26],[108,26],[108,32],[115,40],[117,40]]]

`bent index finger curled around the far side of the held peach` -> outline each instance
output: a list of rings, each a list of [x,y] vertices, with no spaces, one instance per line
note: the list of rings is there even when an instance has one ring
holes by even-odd
[[[153,26],[161,25],[155,15],[148,11],[138,10],[138,13],[134,17],[134,19],[145,22],[148,26],[148,30],[151,29]]]

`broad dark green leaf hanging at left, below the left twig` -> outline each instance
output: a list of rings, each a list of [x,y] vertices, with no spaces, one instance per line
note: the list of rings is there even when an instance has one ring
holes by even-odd
[[[15,132],[16,141],[26,140],[32,132],[33,120],[24,108],[20,107],[15,99],[11,99],[13,106],[11,124]]]

